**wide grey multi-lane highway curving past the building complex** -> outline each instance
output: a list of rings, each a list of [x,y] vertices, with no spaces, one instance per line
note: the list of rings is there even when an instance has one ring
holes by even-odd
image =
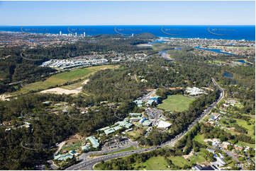
[[[167,141],[165,143],[162,143],[160,146],[157,146],[157,147],[150,147],[150,148],[145,148],[145,149],[139,149],[139,150],[136,150],[136,151],[125,151],[125,152],[121,152],[121,153],[113,153],[113,154],[109,154],[109,155],[104,155],[104,156],[101,156],[99,158],[94,158],[94,159],[87,159],[86,157],[82,157],[80,156],[80,159],[82,160],[81,163],[78,163],[77,165],[72,165],[70,167],[67,167],[66,170],[94,170],[94,165],[96,165],[96,163],[100,163],[102,160],[106,161],[106,160],[111,160],[111,159],[114,159],[114,158],[121,158],[121,157],[124,157],[124,156],[127,156],[127,155],[131,155],[133,153],[144,153],[144,152],[148,152],[148,151],[153,151],[157,148],[162,148],[162,147],[165,147],[165,146],[174,146],[175,143],[177,143],[177,141],[179,141],[182,136],[184,136],[185,134],[187,134],[187,132],[193,128],[193,126],[201,121],[201,119],[203,119],[206,114],[209,114],[211,112],[211,110],[213,109],[213,107],[215,107],[218,102],[220,102],[223,98],[224,98],[224,90],[223,88],[221,88],[218,83],[216,83],[216,81],[214,80],[214,78],[211,78],[211,81],[213,82],[213,84],[215,86],[218,87],[219,90],[221,90],[221,95],[220,97],[218,98],[218,100],[216,102],[213,102],[213,104],[211,104],[206,110],[204,110],[204,112],[201,114],[200,117],[198,117],[197,119],[194,120],[194,122],[192,122],[189,126],[188,126],[188,129],[183,131],[182,133],[180,133],[179,135],[175,136],[175,138],[172,138],[172,140],[170,141]],[[119,151],[121,150],[121,148],[118,148],[116,149],[116,151]],[[89,152],[89,153],[84,153],[83,155],[84,156],[88,156],[90,154],[93,154],[93,153],[97,153],[97,152]],[[99,153],[102,153],[102,151],[98,151],[98,154]],[[108,152],[105,152],[105,153],[110,153],[109,151]]]

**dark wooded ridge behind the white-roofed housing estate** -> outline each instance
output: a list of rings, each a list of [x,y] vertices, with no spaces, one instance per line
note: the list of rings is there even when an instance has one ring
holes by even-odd
[[[95,35],[90,37],[89,40],[79,40],[78,42],[62,46],[41,47],[38,45],[34,49],[24,47],[2,49],[0,51],[0,93],[15,91],[22,84],[33,83],[50,76],[50,73],[54,73],[56,70],[48,67],[39,67],[44,61],[67,59],[95,52],[100,54],[107,54],[108,52],[135,54],[151,49],[136,45],[148,43],[152,38],[155,38],[155,36],[149,33],[143,33],[135,37]],[[22,83],[18,83],[18,81]]]

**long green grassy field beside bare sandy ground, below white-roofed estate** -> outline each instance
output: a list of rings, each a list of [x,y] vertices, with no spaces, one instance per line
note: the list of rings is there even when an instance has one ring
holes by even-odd
[[[50,88],[51,86],[57,86],[61,85],[63,83],[67,83],[68,81],[75,81],[78,79],[86,79],[91,73],[94,73],[96,71],[99,71],[101,69],[113,69],[116,66],[113,65],[104,65],[104,66],[92,66],[89,68],[84,69],[74,69],[72,71],[67,71],[63,73],[57,73],[54,76],[51,76],[50,78],[46,79],[45,81],[38,81],[35,83],[30,83],[21,90],[18,90],[17,92],[13,93],[13,95],[17,93],[28,93],[30,90],[45,90]],[[80,85],[82,84],[82,81],[80,82]],[[76,85],[77,86],[77,85]]]

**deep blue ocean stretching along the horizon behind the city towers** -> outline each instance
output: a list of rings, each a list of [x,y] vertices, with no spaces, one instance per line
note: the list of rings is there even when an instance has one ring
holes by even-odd
[[[62,25],[0,26],[2,31],[50,34],[121,34],[152,33],[157,37],[255,40],[255,25]]]

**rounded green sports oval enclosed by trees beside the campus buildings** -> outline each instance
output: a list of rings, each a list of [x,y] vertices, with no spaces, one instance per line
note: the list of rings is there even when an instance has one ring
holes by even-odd
[[[169,95],[166,100],[163,100],[158,108],[163,110],[170,110],[171,112],[182,112],[189,108],[191,102],[196,100],[195,98],[188,98],[184,95]]]

